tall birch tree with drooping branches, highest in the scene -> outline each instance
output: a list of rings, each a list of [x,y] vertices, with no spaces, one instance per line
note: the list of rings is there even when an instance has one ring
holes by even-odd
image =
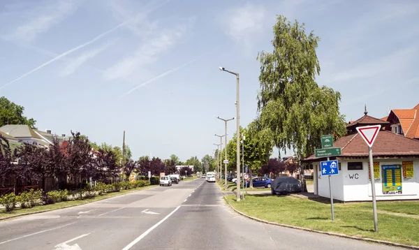
[[[340,137],[346,133],[339,112],[341,95],[318,87],[320,65],[316,48],[320,38],[305,33],[304,24],[291,24],[278,16],[274,25],[273,52],[260,52],[258,110],[264,128],[273,132],[274,145],[293,149],[298,159],[320,147],[320,135]],[[303,188],[304,169],[302,172]]]

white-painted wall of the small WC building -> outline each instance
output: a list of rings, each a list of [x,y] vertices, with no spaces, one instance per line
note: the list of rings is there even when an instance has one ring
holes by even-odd
[[[380,163],[380,178],[374,179],[376,200],[411,200],[419,199],[419,161],[418,159],[374,159]],[[402,170],[402,194],[383,194],[383,182],[381,180],[381,166],[402,165],[402,161],[413,161],[413,178],[403,178]],[[368,159],[351,160],[350,162],[362,162],[362,170],[348,170],[348,161],[341,160],[339,175],[332,176],[333,198],[343,201],[367,201],[372,200],[371,180],[368,178]],[[314,163],[318,166],[318,163]],[[318,168],[317,168],[318,170]],[[329,196],[329,183],[327,176],[321,176],[318,170],[318,195],[326,198]]]

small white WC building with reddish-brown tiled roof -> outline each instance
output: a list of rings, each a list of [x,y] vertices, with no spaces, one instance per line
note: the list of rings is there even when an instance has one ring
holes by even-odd
[[[376,124],[388,126],[390,122],[370,117],[365,112],[363,117],[346,126],[346,136],[335,141],[334,147],[341,147],[341,156],[330,157],[339,161],[339,175],[331,176],[333,198],[372,200],[368,147],[356,127]],[[381,128],[372,152],[376,199],[419,199],[419,140]],[[314,166],[314,194],[330,198],[328,177],[321,175],[320,168],[320,162],[326,160],[313,154],[303,162]]]

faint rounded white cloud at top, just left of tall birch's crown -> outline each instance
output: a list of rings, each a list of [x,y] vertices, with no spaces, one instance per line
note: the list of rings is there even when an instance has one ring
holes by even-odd
[[[236,43],[250,44],[258,31],[263,29],[265,8],[247,3],[239,8],[227,10],[221,18],[226,34]]]

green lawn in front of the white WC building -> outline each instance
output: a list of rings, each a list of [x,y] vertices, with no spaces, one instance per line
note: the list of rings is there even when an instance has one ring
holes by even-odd
[[[330,204],[314,200],[265,195],[247,195],[238,203],[235,196],[226,196],[226,200],[240,212],[267,221],[419,246],[419,219],[378,213],[378,233],[374,233],[371,203],[335,203],[332,221]],[[383,202],[377,207],[393,212],[403,207],[406,214],[417,214],[419,203]]]

